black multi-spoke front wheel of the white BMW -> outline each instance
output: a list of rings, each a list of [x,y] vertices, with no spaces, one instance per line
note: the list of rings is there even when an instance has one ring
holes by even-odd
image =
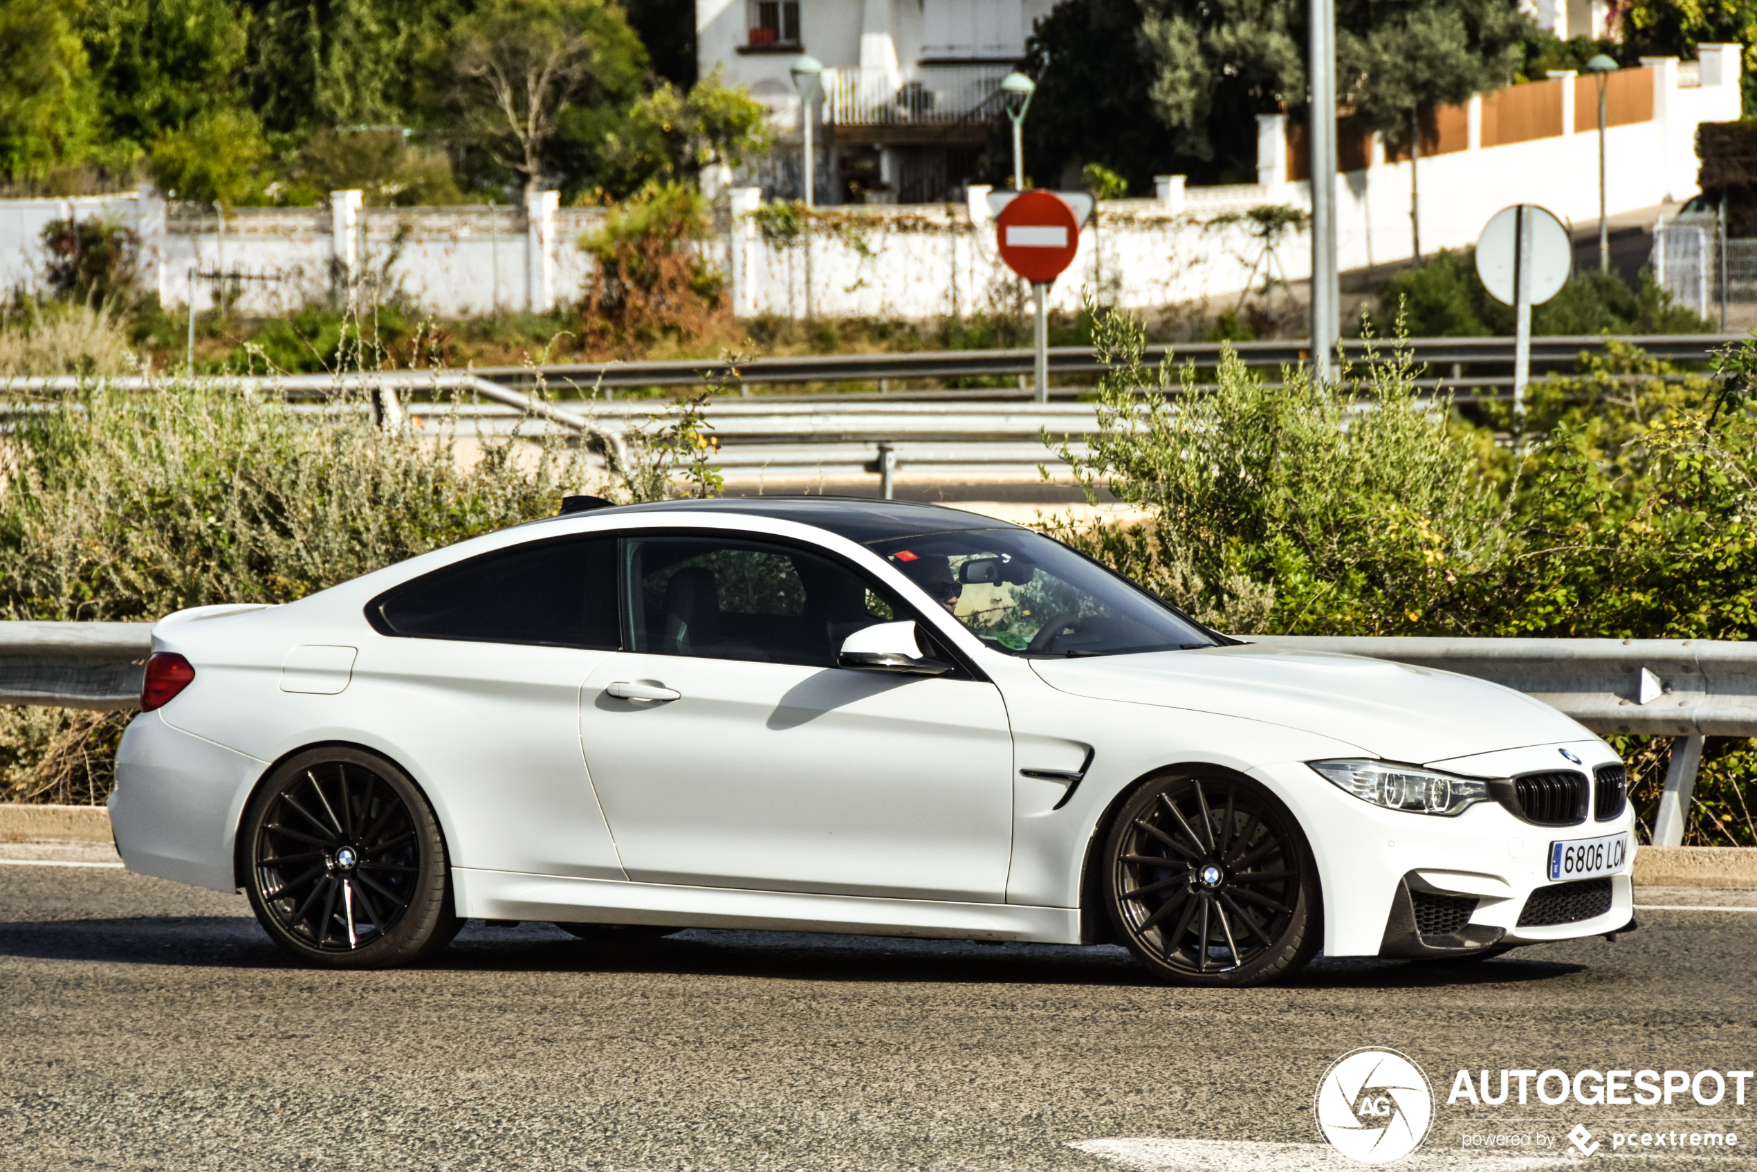
[[[1323,942],[1305,836],[1246,777],[1146,782],[1117,814],[1103,863],[1117,935],[1174,984],[1263,984],[1300,968]]]

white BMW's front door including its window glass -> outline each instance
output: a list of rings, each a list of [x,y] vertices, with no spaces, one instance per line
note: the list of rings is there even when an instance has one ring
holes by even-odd
[[[629,879],[1005,900],[1012,736],[998,689],[835,666],[905,606],[822,552],[622,539],[624,652],[582,692]]]

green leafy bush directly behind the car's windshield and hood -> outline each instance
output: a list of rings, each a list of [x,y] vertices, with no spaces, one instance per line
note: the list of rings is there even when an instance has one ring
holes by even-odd
[[[1304,369],[1267,383],[1230,351],[1195,371],[1142,367],[1139,323],[1098,311],[1098,430],[1061,459],[1137,527],[1066,539],[1204,622],[1279,634],[1476,634],[1460,585],[1500,561],[1500,503],[1476,446],[1383,360],[1346,388]],[[1137,387],[1149,388],[1147,395]],[[1175,397],[1174,397],[1175,395]]]

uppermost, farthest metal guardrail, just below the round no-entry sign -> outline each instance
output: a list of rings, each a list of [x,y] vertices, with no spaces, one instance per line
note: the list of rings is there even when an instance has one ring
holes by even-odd
[[[1613,341],[1639,346],[1655,358],[1667,362],[1706,362],[1724,346],[1745,341],[1745,334],[1639,334]],[[1311,357],[1311,346],[1300,339],[1270,343],[1226,343],[1249,367],[1298,365]],[[1374,343],[1379,353],[1392,353],[1390,343]],[[1179,343],[1175,346],[1149,346],[1146,360],[1158,365],[1167,351],[1182,365],[1212,367],[1219,362],[1221,343]],[[1451,364],[1513,364],[1511,337],[1411,337],[1402,350],[1416,364],[1444,367]],[[1342,351],[1349,360],[1367,357],[1367,343],[1344,339]],[[1534,337],[1532,369],[1571,367],[1581,353],[1604,353],[1601,334]],[[636,387],[756,387],[794,383],[893,383],[912,380],[965,380],[1007,378],[1031,374],[1031,350],[940,350],[919,353],[868,355],[808,355],[796,358],[752,358],[727,364],[719,358],[678,358],[669,362],[575,362],[541,367],[495,365],[474,373],[504,387],[627,390]],[[1089,346],[1054,346],[1049,351],[1049,373],[1063,380],[1072,376],[1098,376],[1107,367],[1098,362]]]

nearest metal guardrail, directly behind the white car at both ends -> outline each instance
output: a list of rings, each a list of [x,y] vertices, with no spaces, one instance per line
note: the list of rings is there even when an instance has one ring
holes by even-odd
[[[148,622],[0,622],[0,703],[132,708]],[[1451,640],[1249,636],[1267,648],[1341,652],[1457,671],[1539,699],[1601,734],[1680,738],[1653,842],[1678,845],[1704,736],[1757,736],[1757,643],[1713,640]]]

